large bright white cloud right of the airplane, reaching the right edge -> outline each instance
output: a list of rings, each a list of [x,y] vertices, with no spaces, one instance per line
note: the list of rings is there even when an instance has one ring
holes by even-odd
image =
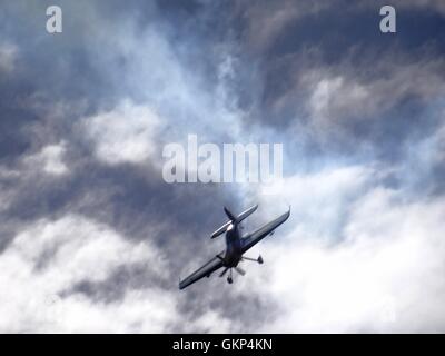
[[[253,270],[280,307],[263,332],[445,329],[445,200],[412,201],[369,186],[376,176],[355,167],[285,182],[295,209],[261,248],[267,290]]]

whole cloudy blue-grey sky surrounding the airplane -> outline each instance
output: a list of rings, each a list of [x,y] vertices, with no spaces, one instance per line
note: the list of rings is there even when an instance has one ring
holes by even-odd
[[[0,332],[445,332],[445,4],[386,2],[3,1]],[[283,181],[166,182],[188,135]],[[265,264],[179,290],[253,204]]]

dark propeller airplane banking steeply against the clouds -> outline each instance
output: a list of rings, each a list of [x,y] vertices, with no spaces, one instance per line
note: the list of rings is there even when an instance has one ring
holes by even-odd
[[[231,269],[235,269],[241,276],[246,274],[245,270],[238,266],[240,261],[250,260],[258,264],[264,263],[261,255],[259,255],[258,258],[255,259],[246,257],[244,256],[244,254],[249,248],[258,244],[266,236],[274,235],[275,229],[283,222],[285,222],[290,216],[290,207],[287,212],[283,214],[275,220],[264,225],[256,231],[241,237],[241,227],[239,224],[248,216],[250,216],[257,208],[258,205],[255,205],[243,211],[238,216],[235,216],[229,209],[224,207],[224,211],[226,212],[229,220],[224,224],[219,229],[217,229],[214,234],[211,234],[211,238],[216,238],[226,233],[226,249],[216,255],[212,259],[210,259],[202,267],[198,268],[190,276],[188,276],[184,280],[179,280],[179,289],[184,289],[204,277],[210,277],[212,273],[221,267],[224,267],[224,270],[219,274],[219,277],[224,277],[228,271],[229,275],[227,276],[227,283],[233,284],[234,278]]]

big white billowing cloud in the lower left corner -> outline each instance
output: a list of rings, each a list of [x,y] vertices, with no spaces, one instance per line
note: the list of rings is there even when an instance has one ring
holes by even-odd
[[[171,294],[128,290],[123,300],[68,294],[76,283],[101,281],[122,265],[144,264],[162,277],[165,261],[149,243],[129,243],[79,216],[39,220],[0,255],[1,332],[162,332],[175,317]]]

